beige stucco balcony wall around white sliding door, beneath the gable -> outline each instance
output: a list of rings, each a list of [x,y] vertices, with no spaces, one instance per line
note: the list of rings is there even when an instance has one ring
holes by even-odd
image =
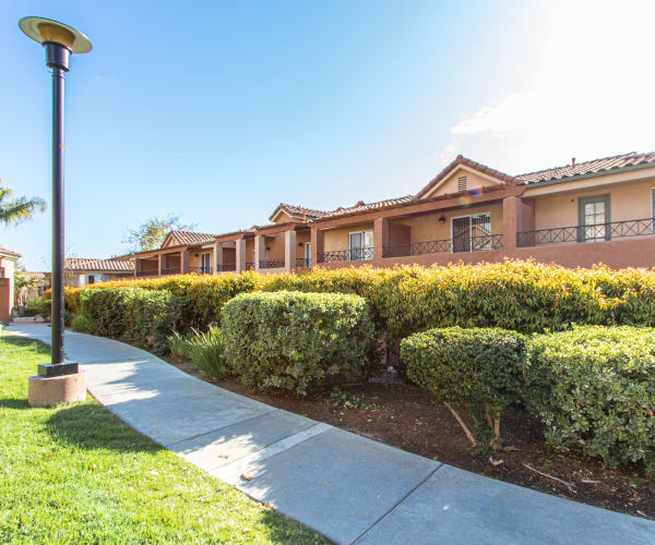
[[[410,227],[412,242],[426,242],[432,240],[445,240],[451,238],[451,220],[462,216],[475,216],[476,214],[491,215],[491,233],[502,232],[502,203],[488,203],[472,206],[465,209],[436,211],[413,218],[391,220],[391,223],[402,223]],[[445,216],[443,223],[439,218]]]

